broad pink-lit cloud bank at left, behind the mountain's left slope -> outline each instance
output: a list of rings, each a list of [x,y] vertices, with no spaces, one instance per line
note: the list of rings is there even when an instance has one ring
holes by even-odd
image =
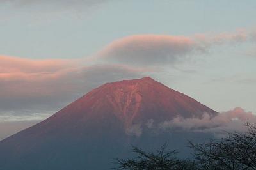
[[[104,82],[138,78],[145,72],[125,65],[81,61],[0,56],[0,114],[31,107],[60,109]]]

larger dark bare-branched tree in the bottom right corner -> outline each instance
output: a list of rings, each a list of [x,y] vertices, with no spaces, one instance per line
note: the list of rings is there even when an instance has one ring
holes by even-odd
[[[256,169],[256,127],[245,123],[244,133],[227,133],[227,137],[194,144],[194,159],[198,169]]]

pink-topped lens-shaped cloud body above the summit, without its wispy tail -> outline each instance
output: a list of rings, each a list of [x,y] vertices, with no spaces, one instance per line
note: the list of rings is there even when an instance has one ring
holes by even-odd
[[[196,43],[185,36],[133,35],[115,40],[97,56],[105,62],[159,65],[175,63],[196,48]]]

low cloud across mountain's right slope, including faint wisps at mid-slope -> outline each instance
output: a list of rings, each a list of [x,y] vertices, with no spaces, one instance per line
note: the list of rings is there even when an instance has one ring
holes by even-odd
[[[227,132],[243,132],[246,130],[244,123],[256,123],[256,115],[236,107],[227,112],[221,112],[216,116],[205,112],[201,118],[184,118],[177,116],[172,120],[163,122],[147,120],[145,122],[132,124],[125,128],[128,135],[140,137],[144,132],[150,130],[152,133],[161,132],[197,132],[214,134],[216,137],[223,137]]]

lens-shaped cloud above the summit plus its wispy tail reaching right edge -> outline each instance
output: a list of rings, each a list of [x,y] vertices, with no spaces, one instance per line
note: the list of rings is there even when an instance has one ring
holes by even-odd
[[[132,35],[115,40],[97,57],[104,62],[128,65],[175,65],[189,61],[211,47],[256,41],[254,30],[237,29],[232,33],[198,33],[192,36]]]

